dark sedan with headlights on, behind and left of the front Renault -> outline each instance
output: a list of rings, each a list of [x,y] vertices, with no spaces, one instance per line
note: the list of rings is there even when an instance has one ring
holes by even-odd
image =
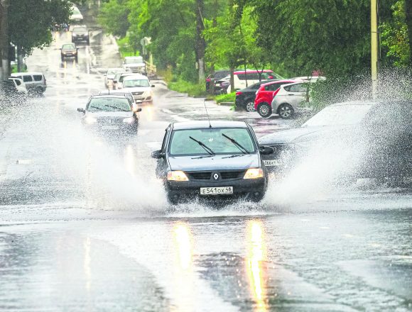
[[[90,130],[116,135],[137,133],[139,126],[139,111],[134,110],[126,96],[97,95],[92,96],[86,108],[77,108],[83,113],[82,124]]]

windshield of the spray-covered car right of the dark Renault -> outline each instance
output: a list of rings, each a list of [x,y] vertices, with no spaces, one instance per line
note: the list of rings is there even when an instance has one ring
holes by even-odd
[[[354,125],[362,121],[371,107],[372,104],[329,106],[303,123],[302,127]]]

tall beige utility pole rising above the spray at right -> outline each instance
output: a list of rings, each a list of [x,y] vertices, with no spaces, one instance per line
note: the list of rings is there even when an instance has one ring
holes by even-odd
[[[371,62],[372,98],[376,99],[378,89],[378,0],[371,0]]]

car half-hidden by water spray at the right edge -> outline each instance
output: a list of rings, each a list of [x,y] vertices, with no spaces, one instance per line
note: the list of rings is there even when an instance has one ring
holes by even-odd
[[[412,176],[411,118],[412,101],[348,101],[327,106],[299,128],[265,135],[259,144],[274,148],[263,156],[274,172],[288,174],[298,163],[321,157],[318,163],[342,163],[334,172],[342,182],[375,178],[402,184]]]

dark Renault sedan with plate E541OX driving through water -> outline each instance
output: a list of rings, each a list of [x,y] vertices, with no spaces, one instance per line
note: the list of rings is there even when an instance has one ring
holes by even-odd
[[[171,123],[152,157],[170,204],[195,197],[260,201],[267,186],[261,154],[270,152],[248,123],[193,121]]]

